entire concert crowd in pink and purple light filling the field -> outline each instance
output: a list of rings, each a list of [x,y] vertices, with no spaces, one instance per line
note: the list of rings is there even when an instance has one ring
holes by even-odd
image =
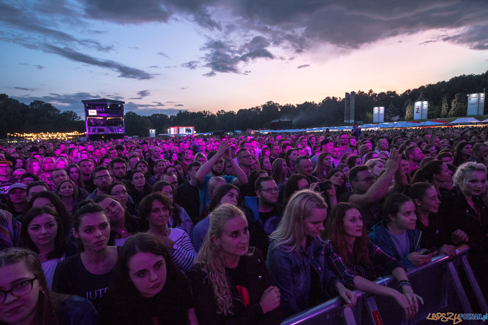
[[[280,324],[355,288],[411,319],[407,270],[460,244],[487,296],[487,135],[4,143],[0,323]]]

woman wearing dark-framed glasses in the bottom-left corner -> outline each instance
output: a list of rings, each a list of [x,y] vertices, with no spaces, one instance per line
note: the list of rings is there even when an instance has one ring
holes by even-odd
[[[86,298],[49,289],[41,262],[32,250],[1,250],[0,274],[1,324],[96,324],[97,311]]]

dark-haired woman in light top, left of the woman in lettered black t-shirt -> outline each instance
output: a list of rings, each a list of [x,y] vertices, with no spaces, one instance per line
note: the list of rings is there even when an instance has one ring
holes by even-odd
[[[25,213],[19,246],[39,254],[49,288],[53,285],[58,263],[77,252],[75,245],[64,235],[58,214],[47,206],[32,208]]]

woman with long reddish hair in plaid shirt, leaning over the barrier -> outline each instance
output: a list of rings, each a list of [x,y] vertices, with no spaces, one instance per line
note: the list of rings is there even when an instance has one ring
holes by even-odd
[[[404,309],[407,319],[418,311],[418,300],[408,282],[405,267],[395,258],[374,245],[363,227],[361,213],[353,204],[338,203],[325,220],[325,258],[334,273],[347,287],[368,293],[392,297]],[[372,282],[378,276],[379,265],[400,283],[402,292]]]

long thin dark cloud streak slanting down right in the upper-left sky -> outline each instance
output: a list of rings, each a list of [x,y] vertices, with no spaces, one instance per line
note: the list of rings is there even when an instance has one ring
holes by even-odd
[[[112,60],[102,60],[96,57],[90,57],[85,54],[76,52],[70,48],[60,48],[57,46],[44,44],[43,46],[44,52],[47,53],[56,53],[61,57],[66,57],[72,61],[83,62],[90,65],[95,65],[102,68],[108,68],[110,70],[114,70],[120,73],[119,76],[124,78],[133,78],[133,79],[152,79],[155,75],[151,75],[145,71],[128,67],[121,63],[112,61]]]

